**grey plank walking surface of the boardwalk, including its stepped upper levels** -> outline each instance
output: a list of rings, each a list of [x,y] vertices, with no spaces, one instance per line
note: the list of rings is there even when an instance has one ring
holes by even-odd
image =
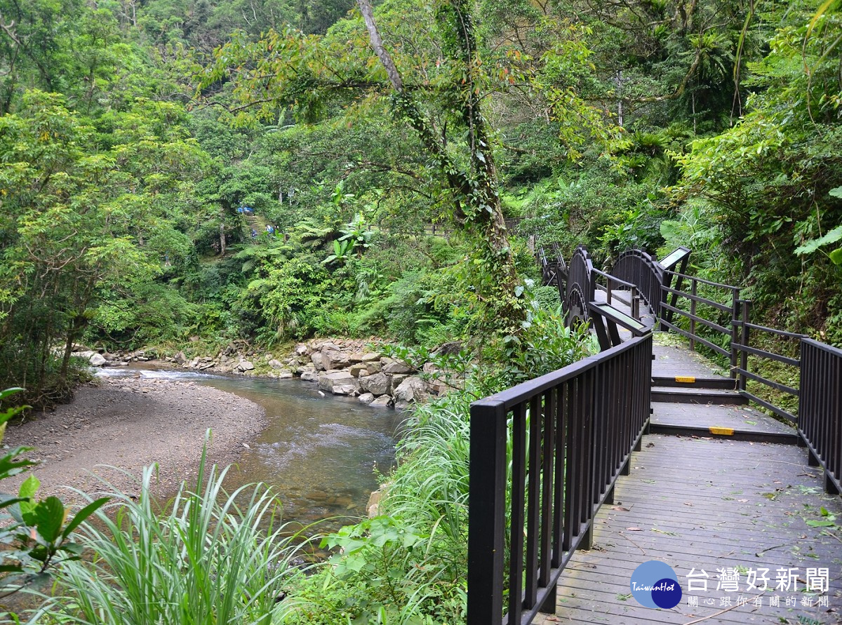
[[[656,348],[653,377],[676,375],[717,371],[686,350]],[[792,432],[744,405],[658,402],[653,409],[656,430],[684,423]],[[837,521],[842,499],[823,493],[822,473],[795,445],[703,431],[645,435],[631,475],[619,478],[613,504],[596,515],[593,548],[575,553],[559,579],[556,614],[534,623],[840,623]],[[630,593],[632,572],[648,560],[677,575],[684,596],[671,610],[641,606]]]

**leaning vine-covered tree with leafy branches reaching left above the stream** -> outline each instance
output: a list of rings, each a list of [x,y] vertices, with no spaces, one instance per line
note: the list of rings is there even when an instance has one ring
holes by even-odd
[[[287,106],[311,121],[338,107],[357,122],[373,110],[391,110],[413,129],[450,221],[474,244],[465,273],[484,317],[493,328],[517,332],[523,309],[500,202],[498,139],[483,115],[483,100],[499,80],[483,68],[472,10],[457,1],[437,8],[384,3],[378,13],[402,44],[388,50],[370,5],[363,3],[361,13],[368,36],[363,20],[354,19],[325,37],[286,29],[256,44],[234,40],[217,51],[202,88],[233,77],[235,97],[271,120]]]

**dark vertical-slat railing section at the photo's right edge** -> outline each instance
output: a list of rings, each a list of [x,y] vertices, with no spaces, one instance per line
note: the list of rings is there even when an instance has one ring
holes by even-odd
[[[842,493],[842,350],[801,341],[798,433],[810,465],[824,469],[824,488]]]

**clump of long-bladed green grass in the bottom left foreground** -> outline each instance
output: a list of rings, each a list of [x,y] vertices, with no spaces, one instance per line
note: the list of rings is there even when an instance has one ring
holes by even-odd
[[[147,467],[137,500],[115,492],[106,513],[82,526],[93,559],[63,565],[57,581],[67,595],[48,600],[30,622],[269,625],[300,572],[290,564],[296,544],[283,526],[264,529],[280,511],[274,495],[262,484],[226,494],[226,472],[207,470],[203,453],[195,491],[183,483],[157,513]]]

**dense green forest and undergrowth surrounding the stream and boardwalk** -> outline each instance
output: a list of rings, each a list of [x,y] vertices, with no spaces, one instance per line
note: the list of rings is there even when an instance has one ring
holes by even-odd
[[[461,345],[462,387],[409,418],[382,515],[325,539],[335,567],[290,565],[296,546],[256,529],[263,495],[229,532],[215,469],[163,521],[148,475],[123,498],[176,545],[156,558],[237,541],[254,588],[237,569],[221,593],[190,561],[207,592],[179,597],[242,591],[226,622],[459,622],[468,403],[593,350],[536,244],[585,243],[605,268],[685,245],[759,321],[842,345],[840,33],[838,0],[0,0],[0,388],[25,389],[0,400],[67,400],[79,344]],[[50,530],[41,563],[82,522],[62,534],[56,502],[24,519]],[[46,622],[126,622],[112,543],[99,576],[62,569],[75,598]],[[188,579],[179,558],[152,568],[169,564],[168,589]],[[75,603],[93,589],[99,606]],[[152,604],[129,601],[172,607]]]

